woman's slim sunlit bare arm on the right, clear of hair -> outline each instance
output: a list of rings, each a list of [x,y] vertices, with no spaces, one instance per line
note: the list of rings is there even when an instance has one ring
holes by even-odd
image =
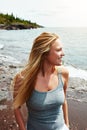
[[[64,113],[64,120],[65,124],[69,128],[69,118],[68,118],[68,104],[66,100],[66,90],[67,90],[67,85],[68,85],[68,79],[69,79],[69,72],[67,69],[63,69],[63,80],[64,80],[64,94],[65,94],[65,101],[63,104],[63,113]]]

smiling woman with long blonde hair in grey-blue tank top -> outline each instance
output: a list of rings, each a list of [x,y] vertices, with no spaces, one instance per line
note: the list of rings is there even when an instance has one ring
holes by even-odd
[[[25,69],[14,84],[14,113],[20,130],[26,130],[20,108],[26,102],[27,130],[68,130],[66,89],[68,71],[60,38],[44,32],[33,43]]]

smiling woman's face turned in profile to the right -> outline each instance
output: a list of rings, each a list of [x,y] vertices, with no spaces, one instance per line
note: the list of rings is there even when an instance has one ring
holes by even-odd
[[[62,49],[62,43],[60,39],[57,39],[52,44],[46,59],[49,64],[58,66],[58,65],[62,65],[63,56],[64,56],[64,52]]]

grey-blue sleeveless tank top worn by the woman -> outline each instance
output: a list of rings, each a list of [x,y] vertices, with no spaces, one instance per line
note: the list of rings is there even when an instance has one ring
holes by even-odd
[[[64,123],[62,105],[64,91],[61,72],[58,73],[58,86],[47,92],[34,90],[27,101],[27,130],[68,130]]]

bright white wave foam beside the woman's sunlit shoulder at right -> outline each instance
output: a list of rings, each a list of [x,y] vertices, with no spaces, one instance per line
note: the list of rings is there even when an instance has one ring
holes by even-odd
[[[69,70],[70,77],[78,77],[78,78],[87,80],[87,71],[86,70],[75,68],[73,66],[66,66],[66,68]]]

